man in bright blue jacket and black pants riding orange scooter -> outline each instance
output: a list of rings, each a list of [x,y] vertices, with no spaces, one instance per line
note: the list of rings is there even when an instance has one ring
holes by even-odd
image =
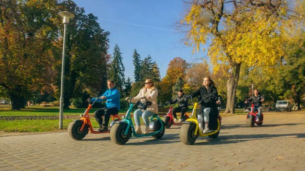
[[[107,80],[108,89],[96,102],[107,100],[105,108],[96,110],[94,112],[95,120],[99,123],[99,131],[108,131],[108,124],[110,115],[115,115],[120,109],[120,92],[114,86],[112,80]],[[96,98],[91,99],[94,101]],[[104,116],[104,120],[102,118]]]

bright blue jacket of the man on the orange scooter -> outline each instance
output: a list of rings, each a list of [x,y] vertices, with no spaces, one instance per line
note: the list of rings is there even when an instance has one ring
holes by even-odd
[[[116,107],[118,110],[120,110],[120,92],[116,88],[108,89],[102,96],[105,96],[106,99],[97,99],[96,102],[101,102],[104,100],[106,101],[106,108],[109,107]],[[102,96],[99,96],[97,98],[100,98]],[[94,101],[96,98],[91,99],[91,101]]]

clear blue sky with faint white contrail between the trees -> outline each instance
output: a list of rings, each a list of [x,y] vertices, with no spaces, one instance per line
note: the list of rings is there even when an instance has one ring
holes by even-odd
[[[123,0],[75,0],[84,7],[86,14],[97,16],[102,29],[110,32],[109,54],[115,44],[121,49],[125,78],[134,80],[132,54],[134,49],[144,59],[150,55],[160,68],[163,78],[169,61],[180,57],[188,62],[205,56],[193,54],[192,47],[186,47],[183,35],[172,27],[175,19],[181,19],[184,4],[180,0],[123,1]],[[200,60],[197,60],[200,62]]]

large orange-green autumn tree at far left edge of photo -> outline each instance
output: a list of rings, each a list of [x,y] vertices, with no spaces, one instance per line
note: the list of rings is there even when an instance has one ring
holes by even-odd
[[[13,110],[23,108],[33,90],[52,86],[57,12],[56,0],[0,1],[0,91]]]

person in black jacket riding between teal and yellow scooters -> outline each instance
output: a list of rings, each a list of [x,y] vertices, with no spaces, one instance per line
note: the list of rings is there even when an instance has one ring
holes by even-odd
[[[183,93],[182,90],[178,91],[178,97],[176,99],[174,99],[173,101],[167,102],[169,104],[174,104],[178,102],[179,106],[175,107],[173,109],[173,115],[174,115],[174,122],[177,123],[177,112],[181,112],[181,116],[180,119],[178,120],[178,124],[182,123],[182,119],[184,117],[185,112],[188,111],[188,99],[185,98],[185,94]]]

